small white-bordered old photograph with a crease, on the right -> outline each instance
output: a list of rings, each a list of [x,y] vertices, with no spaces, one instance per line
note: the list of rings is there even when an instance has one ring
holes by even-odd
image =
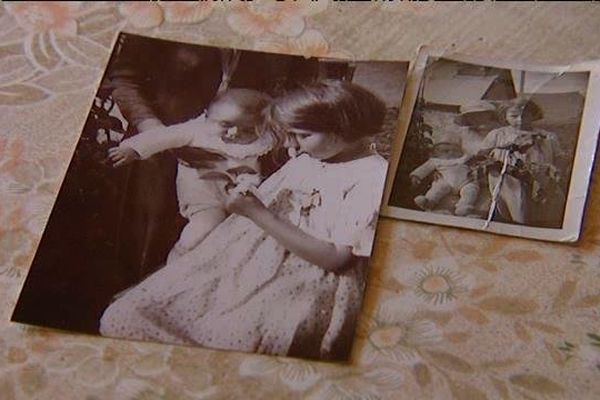
[[[598,134],[590,68],[417,64],[384,215],[576,240]]]

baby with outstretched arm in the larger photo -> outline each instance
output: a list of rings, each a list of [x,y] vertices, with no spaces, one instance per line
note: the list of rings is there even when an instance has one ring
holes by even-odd
[[[193,249],[227,217],[227,189],[239,184],[243,188],[238,190],[248,190],[260,183],[258,157],[272,150],[274,140],[258,135],[256,126],[269,102],[269,96],[261,92],[230,89],[217,96],[199,117],[147,130],[109,150],[113,165],[121,166],[176,149],[179,211],[189,222],[168,261]],[[197,154],[215,161],[215,167],[195,167]]]

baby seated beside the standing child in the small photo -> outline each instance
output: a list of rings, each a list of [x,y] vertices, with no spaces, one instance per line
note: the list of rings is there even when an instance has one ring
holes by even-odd
[[[458,144],[436,143],[431,158],[410,173],[414,186],[420,185],[423,179],[433,172],[439,175],[425,195],[414,198],[415,204],[423,210],[430,211],[444,197],[453,193],[460,196],[454,215],[465,216],[471,213],[479,196],[479,184],[466,165],[469,158],[470,156],[463,155]]]

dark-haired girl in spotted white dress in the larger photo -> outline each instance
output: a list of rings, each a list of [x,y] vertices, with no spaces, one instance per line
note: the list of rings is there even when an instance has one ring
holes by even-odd
[[[265,127],[297,151],[198,247],[111,304],[106,336],[346,359],[387,169],[384,104],[347,82],[298,89]]]

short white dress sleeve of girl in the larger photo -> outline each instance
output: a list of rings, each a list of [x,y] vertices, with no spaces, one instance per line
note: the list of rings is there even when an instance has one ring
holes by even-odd
[[[366,173],[358,171],[358,180],[345,194],[333,239],[338,245],[352,247],[352,253],[369,257],[375,240],[379,208],[383,195],[387,163],[374,163]]]

